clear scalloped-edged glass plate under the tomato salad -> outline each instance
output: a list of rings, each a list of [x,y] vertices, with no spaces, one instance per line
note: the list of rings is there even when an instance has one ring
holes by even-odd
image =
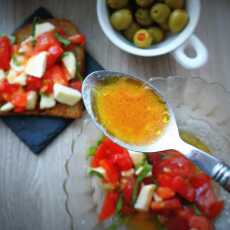
[[[200,78],[171,76],[149,80],[172,104],[178,126],[199,137],[218,157],[230,163],[230,94],[220,85]],[[73,154],[66,164],[64,184],[66,208],[73,229],[103,229],[97,222],[102,192],[97,181],[87,176],[86,152],[101,137],[101,133],[86,115],[78,127]],[[230,226],[230,196],[220,189],[225,209],[216,221],[216,229]]]

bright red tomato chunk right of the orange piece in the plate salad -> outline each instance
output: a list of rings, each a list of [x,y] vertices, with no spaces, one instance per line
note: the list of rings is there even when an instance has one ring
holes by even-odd
[[[183,177],[176,176],[171,182],[171,188],[186,200],[192,202],[195,199],[195,189]]]

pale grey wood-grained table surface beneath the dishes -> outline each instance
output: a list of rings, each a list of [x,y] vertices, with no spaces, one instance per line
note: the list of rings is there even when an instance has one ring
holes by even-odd
[[[196,34],[209,50],[209,62],[199,70],[180,67],[170,55],[140,58],[111,44],[99,28],[95,0],[0,0],[0,31],[11,33],[39,6],[57,17],[68,18],[87,35],[87,48],[105,68],[128,71],[145,78],[154,76],[200,76],[230,90],[230,2],[202,1]],[[0,121],[0,229],[66,230],[70,218],[65,211],[63,181],[65,161],[75,138],[74,122],[40,156],[35,156]]]

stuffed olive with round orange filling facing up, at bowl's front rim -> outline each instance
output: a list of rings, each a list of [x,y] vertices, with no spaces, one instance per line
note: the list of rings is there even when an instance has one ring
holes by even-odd
[[[152,40],[152,36],[145,29],[138,30],[133,37],[134,44],[139,48],[149,48]]]

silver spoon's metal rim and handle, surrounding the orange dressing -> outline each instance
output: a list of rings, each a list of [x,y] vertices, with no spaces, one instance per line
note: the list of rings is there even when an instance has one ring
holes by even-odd
[[[166,127],[165,132],[160,136],[158,140],[147,145],[130,145],[109,134],[107,130],[97,121],[93,111],[93,100],[92,100],[93,89],[99,81],[115,76],[136,79],[143,82],[149,88],[151,88],[155,93],[157,93],[159,97],[166,103],[170,114],[170,120]],[[180,138],[172,107],[161,95],[159,90],[156,89],[152,84],[138,77],[131,76],[129,74],[106,71],[106,70],[96,71],[89,74],[85,78],[82,86],[82,96],[83,96],[83,101],[86,110],[91,116],[93,122],[107,137],[112,139],[118,145],[123,146],[124,148],[129,150],[139,151],[143,153],[158,152],[158,151],[169,150],[169,149],[177,150],[180,153],[184,154],[188,159],[192,160],[201,170],[203,170],[206,174],[212,177],[216,182],[222,185],[228,192],[230,192],[230,167],[227,164],[225,164],[223,161],[217,159],[216,157],[206,152],[203,152],[192,145],[185,143]]]

